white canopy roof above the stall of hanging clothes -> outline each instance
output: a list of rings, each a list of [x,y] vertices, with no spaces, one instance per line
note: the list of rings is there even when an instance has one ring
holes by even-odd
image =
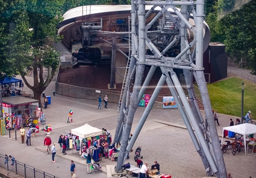
[[[96,128],[86,123],[85,125],[82,125],[78,128],[71,129],[71,134],[78,136],[81,143],[81,140],[83,138],[96,137],[98,135],[101,135],[102,129]],[[80,149],[80,155],[81,155],[81,149]]]

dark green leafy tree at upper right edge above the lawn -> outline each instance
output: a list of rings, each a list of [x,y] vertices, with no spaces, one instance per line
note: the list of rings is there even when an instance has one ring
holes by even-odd
[[[234,62],[252,70],[256,74],[256,1],[250,1],[239,10],[227,14],[220,20],[226,35],[226,52]]]

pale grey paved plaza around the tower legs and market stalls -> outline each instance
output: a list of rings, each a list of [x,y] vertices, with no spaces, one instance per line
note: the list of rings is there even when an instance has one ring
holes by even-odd
[[[31,77],[28,77],[29,82],[33,82]],[[26,86],[24,88],[27,93],[33,93]],[[47,109],[43,109],[46,113],[46,124],[52,126],[51,138],[57,143],[58,138],[65,131],[70,131],[72,128],[89,123],[99,129],[107,128],[114,137],[117,123],[117,104],[108,103],[108,109],[97,109],[97,102],[89,99],[69,98],[61,95],[52,95],[55,90],[55,83],[46,89],[45,95],[51,96],[51,104]],[[139,107],[134,117],[132,133],[139,122],[140,116],[145,108]],[[73,122],[66,123],[69,110],[73,110]],[[204,116],[204,112],[202,111]],[[223,126],[229,126],[229,119],[236,119],[234,116],[219,114],[220,126],[217,126],[218,134],[221,138]],[[36,134],[36,137],[31,138],[31,146],[26,147],[20,144],[20,135],[17,132],[17,140],[14,138],[14,131],[11,131],[11,138],[7,135],[0,136],[0,153],[2,155],[13,155],[17,161],[36,167],[39,170],[53,174],[60,178],[70,178],[70,160],[76,164],[76,176],[83,177],[107,177],[107,165],[116,165],[116,162],[110,159],[103,159],[101,162],[102,171],[93,170],[92,174],[86,172],[86,159],[81,158],[76,150],[67,150],[67,155],[61,154],[61,149],[57,146],[56,162],[51,161],[51,155],[46,155],[43,140],[46,137],[46,132],[41,131]],[[205,170],[201,158],[193,146],[192,140],[184,127],[178,109],[161,109],[153,108],[149,117],[140,132],[139,137],[133,147],[142,146],[141,155],[143,162],[148,162],[149,165],[158,161],[160,171],[164,174],[171,174],[172,177],[204,177]],[[245,156],[245,152],[233,156],[231,151],[224,155],[226,170],[231,173],[233,178],[252,178],[256,177],[255,160],[256,153]],[[134,152],[130,153],[130,159],[126,162],[135,164]],[[0,162],[0,171],[3,170],[4,164]],[[8,171],[7,171],[8,172]]]

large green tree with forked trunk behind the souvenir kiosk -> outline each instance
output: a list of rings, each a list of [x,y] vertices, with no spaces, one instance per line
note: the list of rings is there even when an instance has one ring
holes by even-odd
[[[10,1],[1,16],[6,23],[2,34],[7,39],[4,60],[12,64],[12,73],[19,73],[25,85],[40,101],[42,92],[51,82],[60,64],[58,53],[52,43],[60,40],[57,25],[61,21],[61,7],[64,0]],[[2,42],[2,41],[1,41]],[[46,79],[43,68],[48,69]],[[30,85],[25,76],[33,71],[34,83]],[[4,70],[6,73],[6,71]]]

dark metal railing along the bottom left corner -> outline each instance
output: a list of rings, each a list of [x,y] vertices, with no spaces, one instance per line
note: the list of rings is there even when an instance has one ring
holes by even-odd
[[[0,162],[5,162],[5,156],[0,154]],[[25,178],[58,178],[52,174],[46,173],[44,171],[38,170],[28,164],[23,162],[14,161],[14,165],[11,166],[11,159],[9,158],[7,164],[1,165],[2,168],[6,168],[14,174],[19,174]]]

